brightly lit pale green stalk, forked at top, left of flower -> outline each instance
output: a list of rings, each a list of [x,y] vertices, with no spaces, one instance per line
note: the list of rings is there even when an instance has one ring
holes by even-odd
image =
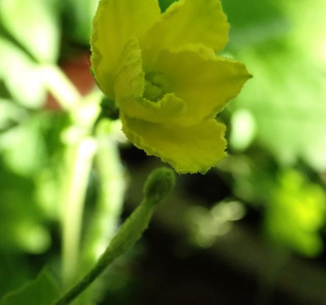
[[[56,65],[40,67],[49,92],[66,110],[71,125],[63,134],[66,144],[63,166],[62,234],[63,281],[71,285],[80,263],[80,234],[88,178],[96,151],[96,141],[90,136],[99,114],[98,91],[82,98],[75,86]]]

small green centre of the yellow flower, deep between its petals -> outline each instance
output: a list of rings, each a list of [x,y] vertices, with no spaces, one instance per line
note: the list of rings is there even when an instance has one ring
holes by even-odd
[[[159,72],[145,74],[145,89],[143,96],[152,101],[160,100],[167,92],[167,80]]]

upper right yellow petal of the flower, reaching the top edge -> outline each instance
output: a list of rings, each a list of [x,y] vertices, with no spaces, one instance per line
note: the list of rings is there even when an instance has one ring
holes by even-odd
[[[228,41],[229,24],[220,0],[180,0],[173,3],[141,39],[144,70],[150,69],[160,50],[203,44],[220,51]]]

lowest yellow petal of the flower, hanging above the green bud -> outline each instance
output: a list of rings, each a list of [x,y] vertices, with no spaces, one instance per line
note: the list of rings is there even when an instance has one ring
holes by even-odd
[[[225,157],[225,126],[215,119],[191,127],[163,126],[121,114],[127,138],[148,155],[160,157],[180,174],[206,173]]]

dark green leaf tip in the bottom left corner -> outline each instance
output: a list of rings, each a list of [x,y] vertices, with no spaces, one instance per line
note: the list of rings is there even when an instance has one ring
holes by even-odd
[[[42,270],[35,280],[7,293],[0,300],[0,305],[49,305],[59,293],[51,274],[47,270]]]

